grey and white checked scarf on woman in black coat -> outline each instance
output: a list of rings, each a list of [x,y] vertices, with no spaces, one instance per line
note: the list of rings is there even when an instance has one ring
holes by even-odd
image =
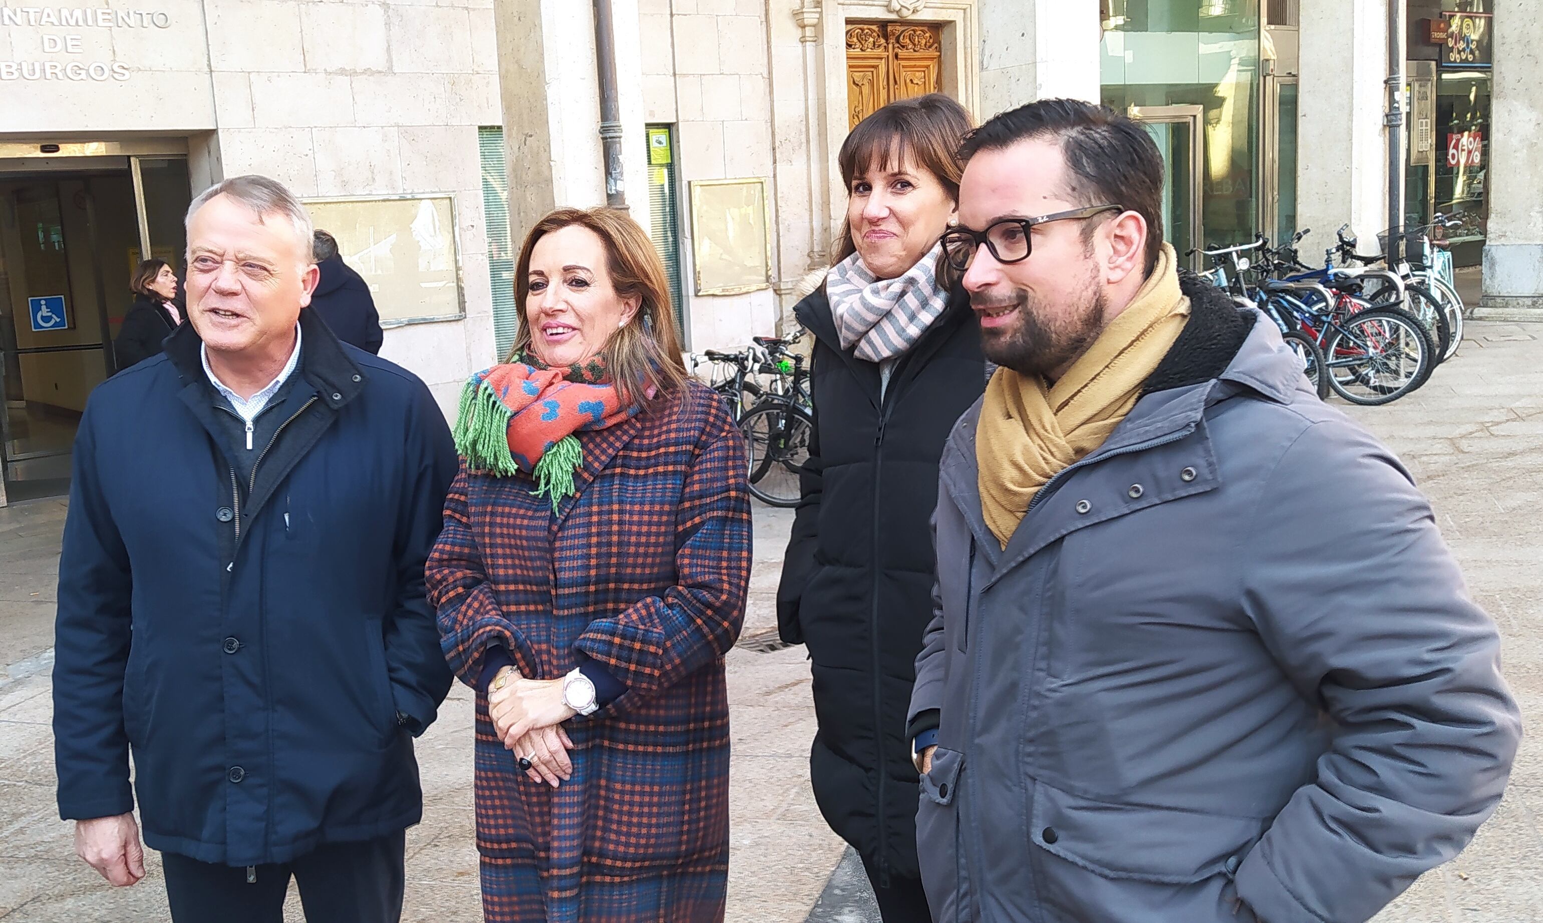
[[[856,357],[867,362],[884,362],[909,350],[949,307],[937,277],[940,253],[943,243],[934,245],[895,279],[875,279],[855,253],[830,267],[826,297],[841,347],[856,347]]]

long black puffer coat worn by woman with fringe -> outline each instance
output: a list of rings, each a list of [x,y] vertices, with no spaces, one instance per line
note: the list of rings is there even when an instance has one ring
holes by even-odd
[[[980,328],[955,290],[881,398],[880,367],[841,348],[824,288],[795,313],[816,339],[815,436],[778,624],[813,661],[815,800],[881,875],[915,878],[918,789],[906,709],[932,616],[938,459],[986,385]]]

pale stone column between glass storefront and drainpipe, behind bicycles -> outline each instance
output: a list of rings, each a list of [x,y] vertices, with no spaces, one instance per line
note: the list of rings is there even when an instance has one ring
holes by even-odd
[[[1350,222],[1361,251],[1387,227],[1387,0],[1302,0],[1298,219],[1319,263]]]

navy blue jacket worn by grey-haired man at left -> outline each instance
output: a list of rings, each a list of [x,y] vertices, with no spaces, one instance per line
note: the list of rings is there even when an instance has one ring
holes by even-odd
[[[423,564],[455,448],[421,381],[309,310],[301,331],[250,478],[188,324],[86,404],[59,562],[65,820],[137,794],[153,849],[252,866],[423,814],[412,735],[451,686]]]

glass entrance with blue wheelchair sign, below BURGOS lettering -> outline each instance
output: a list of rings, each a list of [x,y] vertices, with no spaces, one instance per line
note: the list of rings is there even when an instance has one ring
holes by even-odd
[[[181,270],[187,162],[139,160],[0,160],[0,505],[68,492],[140,254]]]

